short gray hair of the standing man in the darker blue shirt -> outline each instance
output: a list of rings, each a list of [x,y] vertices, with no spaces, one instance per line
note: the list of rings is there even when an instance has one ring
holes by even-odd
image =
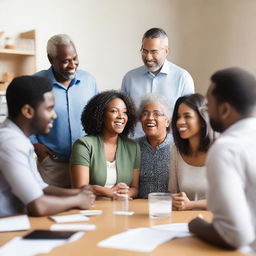
[[[68,44],[74,44],[71,37],[66,34],[58,34],[52,36],[47,43],[47,54],[55,58],[57,56],[57,45],[68,45]]]

